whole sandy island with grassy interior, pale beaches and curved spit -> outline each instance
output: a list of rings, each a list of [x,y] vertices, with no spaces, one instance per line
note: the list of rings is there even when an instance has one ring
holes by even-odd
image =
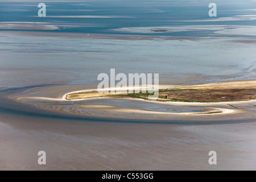
[[[70,86],[73,90],[75,87],[77,88],[76,85]],[[51,93],[56,90],[56,88],[51,87],[38,89],[41,94],[46,90]],[[39,90],[36,90],[36,93]],[[127,90],[127,88],[124,88],[124,90]],[[35,92],[30,90],[11,98],[14,98],[17,102],[35,105],[40,109],[107,118],[141,118],[144,117],[144,114],[149,114],[158,119],[171,119],[172,116],[198,116],[201,118],[204,115],[225,116],[230,114],[243,114],[242,117],[250,115],[254,118],[256,109],[255,92],[256,80],[247,80],[197,85],[159,85],[157,100],[148,100],[148,93],[100,94],[97,89],[64,92],[64,95],[56,98],[36,96]],[[114,100],[119,100],[119,102],[109,104],[109,101]],[[125,105],[125,100],[133,101],[133,106]],[[144,103],[143,106],[139,106],[139,102]]]

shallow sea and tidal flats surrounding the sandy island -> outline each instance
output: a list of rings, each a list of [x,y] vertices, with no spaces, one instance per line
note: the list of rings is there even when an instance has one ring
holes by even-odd
[[[193,31],[154,34],[152,38],[145,34],[113,31],[113,28],[123,27],[255,24],[255,20],[241,19],[185,22],[208,19],[205,14],[208,3],[152,1],[135,6],[131,1],[108,4],[47,2],[49,16],[122,17],[39,19],[36,17],[37,2],[0,2],[0,26],[3,22],[43,22],[60,28],[50,32],[0,31],[0,169],[255,170],[255,119],[243,123],[245,117],[240,116],[239,123],[212,121],[186,125],[113,122],[111,119],[56,116],[46,110],[38,114],[32,106],[17,104],[14,107],[14,100],[7,99],[34,88],[31,85],[67,84],[66,88],[56,87],[55,93],[51,90],[40,93],[42,97],[51,94],[60,97],[63,90],[70,90],[69,86],[74,84],[97,85],[98,74],[109,74],[110,68],[125,74],[160,73],[159,81],[163,84],[255,79],[254,36],[224,37],[213,31]],[[254,6],[255,1],[221,3],[218,16],[255,14],[250,10]],[[68,32],[70,34],[64,34]],[[105,36],[102,38],[96,33]],[[114,33],[127,37],[117,38]],[[170,39],[159,35],[185,38]],[[28,88],[14,93],[14,88],[23,86]],[[106,101],[110,102],[120,101]],[[40,150],[47,153],[46,166],[37,163]],[[217,152],[216,166],[208,163],[208,153],[213,150]]]

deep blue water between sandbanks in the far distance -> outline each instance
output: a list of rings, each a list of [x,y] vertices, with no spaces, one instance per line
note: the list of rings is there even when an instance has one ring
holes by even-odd
[[[101,34],[132,34],[113,32],[113,28],[189,25],[256,25],[256,20],[225,22],[184,22],[210,19],[211,1],[89,1],[46,2],[46,17],[38,17],[39,2],[0,2],[0,22],[46,22],[58,30],[51,32],[81,32]],[[217,18],[254,15],[255,1],[218,1]],[[85,11],[86,10],[86,11]],[[121,16],[121,18],[51,18],[49,16]],[[78,27],[69,27],[78,26]],[[0,29],[1,30],[1,29]],[[6,29],[2,29],[6,30]],[[12,30],[12,29],[10,29]],[[24,31],[22,29],[16,31]],[[172,36],[207,36],[213,31],[184,31],[164,33]],[[163,35],[163,34],[154,34]],[[216,35],[218,36],[218,35]]]

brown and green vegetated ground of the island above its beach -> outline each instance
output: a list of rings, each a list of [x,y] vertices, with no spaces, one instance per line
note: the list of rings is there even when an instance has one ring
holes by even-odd
[[[67,100],[83,98],[141,98],[148,100],[149,93],[103,93],[97,90],[67,94]],[[201,85],[176,86],[172,89],[159,89],[156,101],[172,102],[232,102],[256,100],[255,81],[216,82]]]

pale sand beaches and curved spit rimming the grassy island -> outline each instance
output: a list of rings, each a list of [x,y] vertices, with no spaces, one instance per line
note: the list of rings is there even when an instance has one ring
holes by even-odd
[[[232,87],[234,85],[241,85],[241,84],[256,84],[256,81],[232,81],[232,82],[216,82],[216,83],[209,83],[209,84],[200,84],[200,85],[185,85],[182,86],[183,88],[207,88],[211,86],[229,86]],[[159,89],[170,89],[170,88],[180,88],[178,85],[159,85]],[[127,89],[127,88],[124,88]],[[74,91],[74,92],[69,92],[65,93],[61,98],[51,98],[51,97],[30,97],[30,96],[16,96],[14,97],[16,101],[18,102],[27,102],[28,100],[32,102],[32,104],[36,104],[36,102],[39,101],[47,101],[47,102],[67,102],[72,105],[72,103],[76,101],[89,101],[89,100],[100,100],[100,99],[111,99],[109,97],[93,97],[93,98],[80,98],[77,100],[67,100],[66,97],[68,94],[73,94],[73,93],[81,93],[81,92],[93,92],[96,91],[97,89],[86,89],[86,90],[79,90],[79,91]],[[113,99],[113,98],[112,98]],[[236,101],[236,102],[173,102],[173,101],[167,101],[167,102],[161,102],[161,101],[151,101],[151,100],[143,100],[143,99],[137,99],[137,98],[121,98],[121,100],[132,100],[132,101],[141,101],[141,102],[146,102],[148,104],[162,104],[162,105],[171,105],[171,106],[177,106],[177,110],[179,110],[179,106],[191,106],[191,107],[203,107],[201,111],[159,111],[159,110],[147,110],[147,108],[129,108],[129,107],[117,107],[117,106],[110,106],[110,105],[84,105],[83,104],[76,104],[74,106],[69,105],[69,107],[72,107],[72,109],[60,109],[60,107],[57,107],[57,111],[65,110],[67,112],[68,110],[72,110],[77,107],[79,109],[82,108],[91,108],[95,109],[94,111],[96,112],[95,114],[97,115],[97,111],[105,111],[108,113],[134,113],[134,114],[153,114],[153,115],[223,115],[223,114],[238,114],[238,113],[244,113],[244,110],[240,110],[238,108],[230,107],[230,108],[223,108],[226,105],[234,105],[234,104],[253,104],[256,102],[256,100],[250,100],[250,101]],[[56,104],[56,103],[55,103]],[[40,104],[36,104],[39,108],[42,109],[49,109],[49,107],[46,106],[40,106]],[[51,107],[51,110],[55,107]],[[77,111],[76,111],[77,113]]]

